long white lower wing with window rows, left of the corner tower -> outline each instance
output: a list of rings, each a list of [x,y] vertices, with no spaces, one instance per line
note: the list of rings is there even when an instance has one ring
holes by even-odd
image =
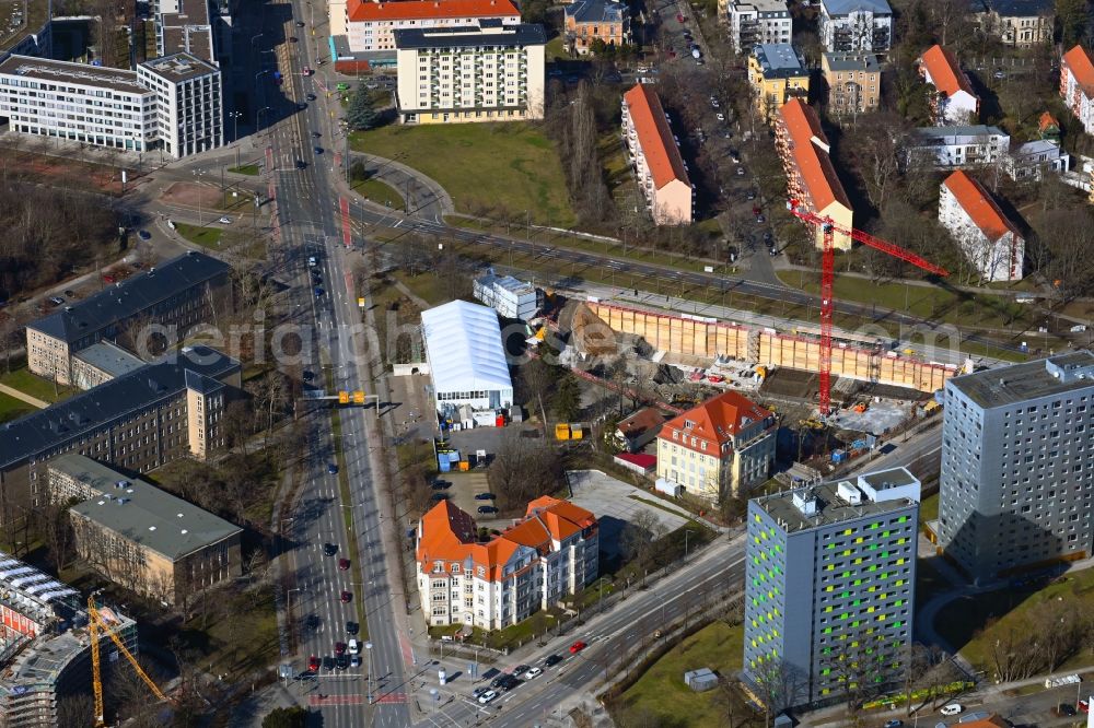
[[[133,71],[30,56],[0,62],[0,117],[19,133],[148,152],[158,101]]]

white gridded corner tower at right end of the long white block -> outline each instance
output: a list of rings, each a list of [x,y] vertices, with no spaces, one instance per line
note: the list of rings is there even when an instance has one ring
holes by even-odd
[[[178,160],[224,145],[220,69],[187,52],[144,61],[137,79],[155,91],[156,136]]]

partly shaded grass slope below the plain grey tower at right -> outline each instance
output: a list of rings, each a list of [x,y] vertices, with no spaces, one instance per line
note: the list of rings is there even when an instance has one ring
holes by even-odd
[[[991,646],[1012,631],[1026,633],[1025,613],[1046,601],[1059,599],[1076,606],[1080,612],[1094,613],[1094,570],[1073,572],[1039,591],[1003,588],[997,591],[959,597],[947,603],[934,619],[934,627],[962,655],[980,669],[989,669]],[[987,625],[987,626],[985,626]],[[1090,648],[1071,658],[1072,665],[1089,665]]]

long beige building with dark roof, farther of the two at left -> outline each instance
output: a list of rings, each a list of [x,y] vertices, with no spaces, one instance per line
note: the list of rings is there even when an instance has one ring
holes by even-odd
[[[58,384],[86,383],[73,376],[84,349],[121,339],[139,350],[149,325],[173,330],[179,341],[231,305],[231,267],[191,250],[27,324],[27,367]]]

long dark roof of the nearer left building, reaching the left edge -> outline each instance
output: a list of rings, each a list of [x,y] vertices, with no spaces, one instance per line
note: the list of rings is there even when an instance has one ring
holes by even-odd
[[[88,391],[25,416],[0,424],[0,468],[50,447],[96,432],[128,412],[136,412],[186,388],[186,373],[220,378],[240,363],[208,347],[187,347]]]

